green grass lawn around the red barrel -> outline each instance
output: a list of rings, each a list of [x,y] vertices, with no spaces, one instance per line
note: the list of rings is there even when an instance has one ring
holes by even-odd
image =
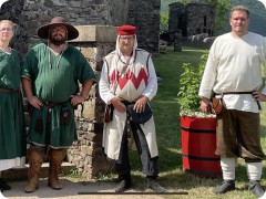
[[[181,127],[180,111],[176,103],[178,92],[178,77],[182,73],[182,63],[198,63],[205,50],[196,48],[183,48],[182,52],[167,49],[156,57],[153,57],[156,72],[163,82],[158,85],[157,95],[151,102],[154,112],[157,144],[160,148],[160,182],[172,192],[187,191],[188,196],[174,195],[165,198],[256,198],[247,190],[247,175],[245,164],[238,159],[236,172],[236,190],[226,195],[216,196],[212,189],[222,182],[222,179],[198,178],[183,172],[181,156]],[[263,106],[265,106],[263,104]],[[262,113],[262,143],[266,148],[266,114]],[[266,149],[265,149],[266,151]],[[133,161],[133,185],[143,189],[145,187],[144,176],[140,171],[140,161],[136,153],[131,154]],[[265,168],[264,168],[265,172]],[[262,184],[266,186],[266,180]]]

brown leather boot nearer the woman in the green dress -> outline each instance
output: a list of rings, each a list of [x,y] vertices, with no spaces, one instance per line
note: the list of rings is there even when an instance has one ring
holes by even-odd
[[[43,163],[43,156],[37,150],[30,149],[28,155],[30,168],[28,171],[28,185],[24,188],[27,193],[34,192],[39,188],[39,178]]]

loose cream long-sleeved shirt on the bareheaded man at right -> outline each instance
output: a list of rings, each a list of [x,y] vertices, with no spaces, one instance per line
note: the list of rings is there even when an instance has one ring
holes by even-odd
[[[198,95],[209,98],[212,90],[223,92],[249,92],[260,88],[262,72],[266,73],[266,39],[248,32],[243,38],[232,33],[218,36],[211,50]],[[262,70],[263,69],[263,70]],[[266,94],[266,88],[262,88]],[[258,105],[250,94],[224,95],[227,109],[258,113]]]

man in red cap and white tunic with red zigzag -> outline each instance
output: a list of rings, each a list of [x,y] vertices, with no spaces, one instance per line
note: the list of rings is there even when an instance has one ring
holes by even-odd
[[[115,163],[121,180],[114,191],[131,187],[127,145],[133,143],[136,144],[147,188],[162,192],[165,189],[156,180],[158,151],[149,105],[157,92],[154,65],[151,55],[137,49],[135,27],[119,27],[117,33],[116,49],[104,57],[99,82],[101,98],[113,111],[112,121],[104,124],[103,148],[108,159]]]

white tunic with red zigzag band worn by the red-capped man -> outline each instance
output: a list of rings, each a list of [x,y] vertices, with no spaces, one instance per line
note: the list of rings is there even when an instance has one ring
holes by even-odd
[[[125,59],[116,51],[104,57],[101,78],[99,82],[101,98],[110,104],[114,96],[134,102],[141,95],[150,101],[157,92],[157,77],[150,54],[135,49],[126,65]],[[106,123],[103,129],[103,148],[110,159],[117,160],[126,113],[114,109],[113,121]],[[158,156],[154,118],[141,125],[146,137],[151,157]]]

